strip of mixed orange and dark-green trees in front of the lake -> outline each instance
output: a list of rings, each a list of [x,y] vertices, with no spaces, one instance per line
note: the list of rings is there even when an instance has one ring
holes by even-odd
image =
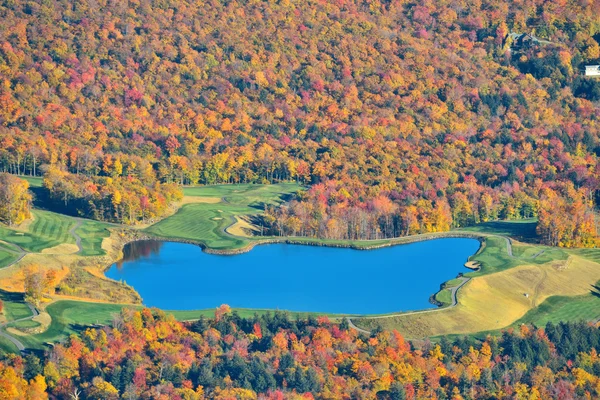
[[[72,336],[41,359],[5,356],[12,399],[590,399],[600,396],[600,330],[522,326],[485,341],[418,349],[395,331],[360,336],[346,322],[250,319],[217,309],[182,324],[125,310],[112,327]],[[26,394],[27,397],[23,397]]]

